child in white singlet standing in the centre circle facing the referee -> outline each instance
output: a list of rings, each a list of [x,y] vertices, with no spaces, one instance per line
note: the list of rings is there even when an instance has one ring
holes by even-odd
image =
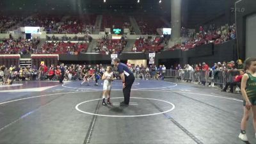
[[[113,72],[112,72],[112,67],[107,67],[106,72],[104,72],[103,76],[102,76],[102,80],[104,80],[103,83],[103,95],[102,95],[102,105],[106,106],[106,95],[107,96],[107,104],[111,104],[110,102],[110,92],[111,92],[111,81],[113,81],[114,76],[113,76]]]

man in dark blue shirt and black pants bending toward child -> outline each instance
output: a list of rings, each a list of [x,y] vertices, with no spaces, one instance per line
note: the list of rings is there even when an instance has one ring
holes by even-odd
[[[124,102],[120,102],[120,106],[129,106],[131,88],[135,77],[131,70],[129,70],[127,65],[125,65],[124,63],[120,63],[120,60],[118,58],[114,59],[113,61],[123,81]]]

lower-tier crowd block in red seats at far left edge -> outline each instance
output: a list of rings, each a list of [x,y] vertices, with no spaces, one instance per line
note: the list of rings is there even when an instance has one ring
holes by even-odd
[[[0,54],[33,54],[37,51],[40,39],[26,40],[19,38],[8,38],[0,40]]]

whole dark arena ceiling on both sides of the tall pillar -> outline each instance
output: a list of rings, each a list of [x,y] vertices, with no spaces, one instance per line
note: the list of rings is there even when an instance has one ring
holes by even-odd
[[[161,15],[170,21],[171,0],[0,0],[0,14],[83,15],[108,13],[116,15]],[[182,26],[195,26],[228,10],[237,0],[182,0]],[[232,4],[231,4],[232,5]],[[234,7],[234,6],[233,6]]]

